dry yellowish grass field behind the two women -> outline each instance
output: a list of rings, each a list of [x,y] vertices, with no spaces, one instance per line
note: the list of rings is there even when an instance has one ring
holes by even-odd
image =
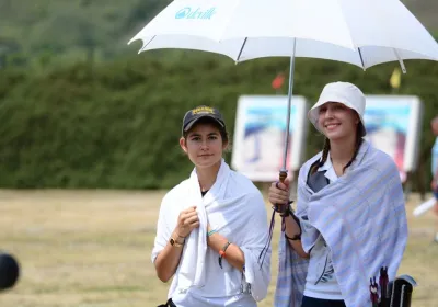
[[[14,253],[22,276],[0,293],[1,307],[145,307],[164,302],[169,285],[154,274],[150,252],[164,192],[0,191],[0,249]],[[419,286],[414,307],[438,306],[438,245],[431,213],[414,219],[400,274]],[[277,224],[278,226],[278,224]],[[277,227],[278,228],[278,227]],[[277,229],[278,231],[278,229]],[[260,306],[273,306],[277,271]]]

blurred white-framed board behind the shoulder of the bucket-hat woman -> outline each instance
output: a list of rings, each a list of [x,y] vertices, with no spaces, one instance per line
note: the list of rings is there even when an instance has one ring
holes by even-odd
[[[423,122],[420,100],[411,95],[367,95],[364,117],[366,139],[394,159],[404,182],[406,173],[417,168]]]

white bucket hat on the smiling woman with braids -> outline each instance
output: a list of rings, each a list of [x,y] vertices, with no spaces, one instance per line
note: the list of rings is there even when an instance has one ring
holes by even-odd
[[[353,109],[359,115],[360,122],[364,126],[364,133],[361,136],[365,136],[367,132],[365,130],[365,122],[364,122],[364,113],[365,113],[365,95],[359,90],[358,87],[348,82],[333,82],[328,83],[324,87],[321,92],[320,99],[318,102],[310,109],[308,113],[308,117],[310,122],[312,122],[313,126],[322,133],[322,129],[318,125],[318,118],[320,115],[321,105],[327,102],[338,102],[344,104],[345,106]]]

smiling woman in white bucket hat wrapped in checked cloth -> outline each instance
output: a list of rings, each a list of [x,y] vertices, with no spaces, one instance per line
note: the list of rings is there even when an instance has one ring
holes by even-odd
[[[403,190],[393,160],[364,139],[365,106],[356,86],[326,84],[308,113],[324,148],[300,169],[296,212],[288,180],[269,189],[285,221],[275,306],[372,306],[370,278],[395,277],[407,239]]]

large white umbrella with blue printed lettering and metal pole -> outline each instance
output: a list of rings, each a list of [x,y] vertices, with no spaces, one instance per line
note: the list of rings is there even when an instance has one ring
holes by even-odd
[[[286,178],[296,57],[361,67],[404,59],[438,60],[438,44],[399,0],[174,0],[132,39],[140,52],[197,49],[237,62],[291,58],[281,180]]]

